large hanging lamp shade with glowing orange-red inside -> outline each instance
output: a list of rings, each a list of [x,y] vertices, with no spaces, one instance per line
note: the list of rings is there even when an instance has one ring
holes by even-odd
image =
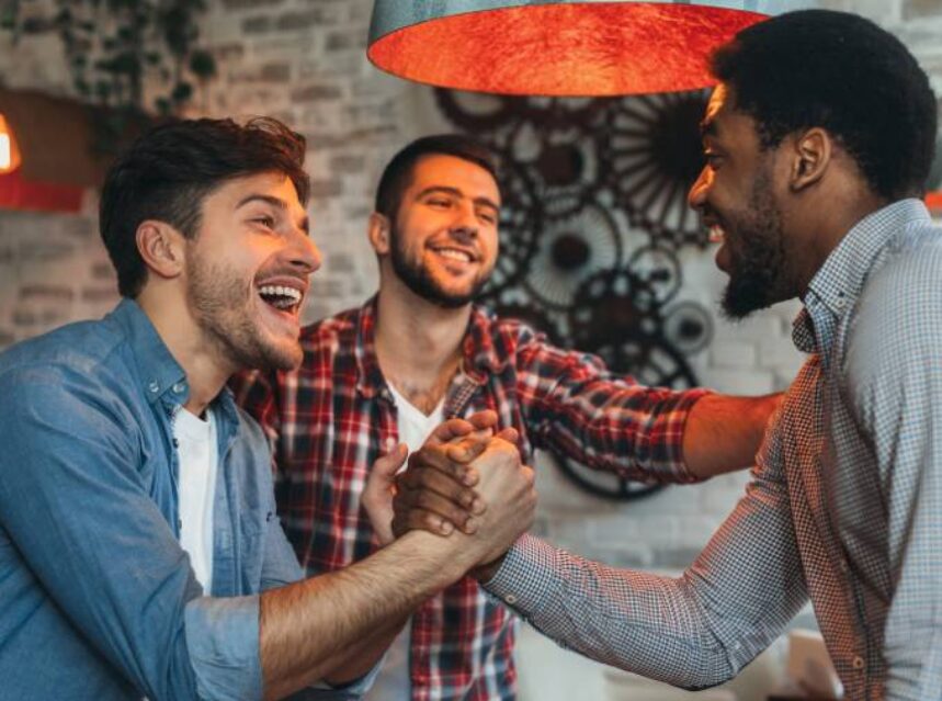
[[[760,10],[774,4],[376,0],[367,56],[409,80],[477,92],[589,97],[693,90],[715,82],[711,52],[765,19]]]

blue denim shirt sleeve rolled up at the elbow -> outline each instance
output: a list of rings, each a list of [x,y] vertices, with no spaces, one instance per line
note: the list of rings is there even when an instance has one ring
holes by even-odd
[[[53,366],[0,389],[0,519],[64,615],[152,701],[260,698],[258,598],[201,597],[120,388]]]

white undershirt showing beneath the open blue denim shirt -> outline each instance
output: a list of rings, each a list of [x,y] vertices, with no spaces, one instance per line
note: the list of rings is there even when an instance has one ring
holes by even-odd
[[[216,420],[212,409],[207,420],[180,409],[173,421],[173,438],[180,456],[178,494],[180,502],[180,545],[203,591],[213,588],[213,499],[216,494]]]

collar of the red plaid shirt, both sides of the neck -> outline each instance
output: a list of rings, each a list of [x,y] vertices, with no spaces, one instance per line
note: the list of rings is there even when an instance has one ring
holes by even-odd
[[[503,370],[511,360],[499,339],[491,333],[493,315],[479,305],[472,306],[468,330],[462,344],[462,371],[475,384],[487,382],[490,374]],[[373,397],[386,387],[379,360],[376,358],[376,295],[360,307],[356,316],[356,391]]]

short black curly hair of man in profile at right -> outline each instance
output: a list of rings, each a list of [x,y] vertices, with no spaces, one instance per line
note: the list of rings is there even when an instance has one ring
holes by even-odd
[[[877,195],[923,193],[935,95],[903,43],[870,20],[828,10],[783,14],[739,32],[714,54],[712,69],[756,120],[763,148],[821,127]]]

